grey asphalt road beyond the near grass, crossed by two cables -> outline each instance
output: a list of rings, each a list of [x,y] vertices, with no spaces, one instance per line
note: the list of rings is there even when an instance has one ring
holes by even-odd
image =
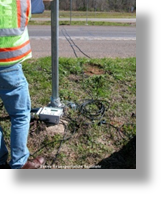
[[[33,58],[51,55],[50,26],[28,26],[31,39]],[[66,35],[66,37],[64,36]],[[70,44],[66,38],[73,42]],[[60,57],[135,57],[136,27],[112,26],[60,26],[59,56]],[[78,50],[78,48],[80,50]]]

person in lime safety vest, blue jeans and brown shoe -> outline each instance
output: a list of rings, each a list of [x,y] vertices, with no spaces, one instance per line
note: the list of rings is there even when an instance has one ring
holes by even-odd
[[[0,0],[0,98],[11,118],[11,160],[0,127],[0,168],[37,169],[43,157],[29,161],[27,138],[30,125],[30,95],[21,63],[31,58],[27,24],[30,0]]]

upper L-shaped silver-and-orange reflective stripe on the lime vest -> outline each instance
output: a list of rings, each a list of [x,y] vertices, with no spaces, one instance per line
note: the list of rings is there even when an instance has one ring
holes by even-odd
[[[7,4],[7,3],[4,3]],[[0,36],[18,36],[21,35],[28,23],[30,14],[30,0],[16,0],[17,6],[17,27],[1,28]]]

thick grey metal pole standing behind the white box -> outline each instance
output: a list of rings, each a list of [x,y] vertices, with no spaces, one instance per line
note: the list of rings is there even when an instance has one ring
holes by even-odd
[[[61,107],[59,98],[59,0],[51,2],[51,56],[52,97],[51,106]]]

